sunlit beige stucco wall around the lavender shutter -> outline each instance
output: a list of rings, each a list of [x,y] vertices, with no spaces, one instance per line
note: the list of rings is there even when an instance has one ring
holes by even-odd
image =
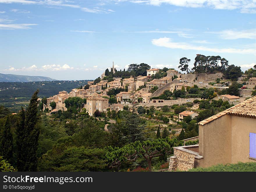
[[[256,133],[256,119],[233,116],[232,122],[232,163],[241,162],[256,162],[254,159],[249,159],[249,133]]]

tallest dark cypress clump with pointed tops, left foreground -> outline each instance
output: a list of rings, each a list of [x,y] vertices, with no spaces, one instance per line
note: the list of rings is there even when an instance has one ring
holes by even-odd
[[[17,126],[17,148],[18,148],[18,171],[36,171],[37,170],[37,149],[39,129],[36,126],[38,122],[37,99],[39,90],[35,91],[30,99],[26,111],[22,109],[21,120]]]

